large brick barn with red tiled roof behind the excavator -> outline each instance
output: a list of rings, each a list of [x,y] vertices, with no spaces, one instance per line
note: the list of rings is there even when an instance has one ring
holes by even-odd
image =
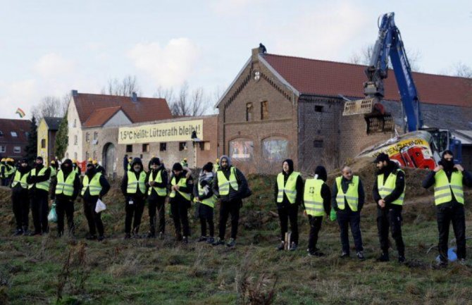
[[[280,170],[287,157],[297,168],[340,166],[362,149],[392,137],[367,135],[362,116],[342,116],[346,99],[364,97],[364,66],[261,54],[251,57],[216,105],[220,154],[247,170]],[[472,125],[472,86],[461,77],[414,73],[425,125],[467,129]],[[393,73],[385,102],[402,132],[402,104]]]

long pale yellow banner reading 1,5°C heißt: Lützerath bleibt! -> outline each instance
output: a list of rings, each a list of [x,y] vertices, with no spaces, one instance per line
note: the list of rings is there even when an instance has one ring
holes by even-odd
[[[120,127],[118,144],[185,142],[191,140],[194,130],[197,132],[197,137],[202,140],[203,120],[182,120],[137,127]]]

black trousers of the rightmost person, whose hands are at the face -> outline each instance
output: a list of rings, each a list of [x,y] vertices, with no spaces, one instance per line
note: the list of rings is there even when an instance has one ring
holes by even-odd
[[[436,206],[437,230],[439,230],[440,260],[447,262],[447,242],[449,239],[449,223],[452,222],[452,229],[456,237],[457,259],[466,259],[466,219],[464,215],[464,205],[454,204],[449,207]]]

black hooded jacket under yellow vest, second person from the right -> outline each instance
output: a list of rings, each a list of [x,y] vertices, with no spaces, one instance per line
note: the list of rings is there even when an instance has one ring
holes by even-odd
[[[380,197],[380,194],[378,194],[378,175],[384,174],[383,175],[383,183],[385,184],[385,181],[387,181],[388,176],[390,173],[397,173],[395,178],[395,189],[388,194],[384,200],[385,200],[385,207],[384,209],[390,210],[390,208],[401,210],[402,206],[399,206],[398,204],[392,204],[393,201],[397,200],[403,193],[404,187],[405,187],[405,173],[403,171],[398,171],[399,166],[397,163],[390,161],[385,167],[385,170],[383,170],[381,173],[376,173],[375,178],[373,181],[373,189],[372,189],[372,196],[373,200],[375,201],[375,204],[377,204],[377,207],[380,208],[378,205],[378,201],[382,199]]]

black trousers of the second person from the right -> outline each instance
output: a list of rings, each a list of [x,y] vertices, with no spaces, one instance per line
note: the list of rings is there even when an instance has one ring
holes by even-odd
[[[392,230],[399,256],[405,256],[405,244],[402,237],[402,210],[395,208],[377,208],[377,229],[380,239],[380,249],[388,253],[388,230]]]

